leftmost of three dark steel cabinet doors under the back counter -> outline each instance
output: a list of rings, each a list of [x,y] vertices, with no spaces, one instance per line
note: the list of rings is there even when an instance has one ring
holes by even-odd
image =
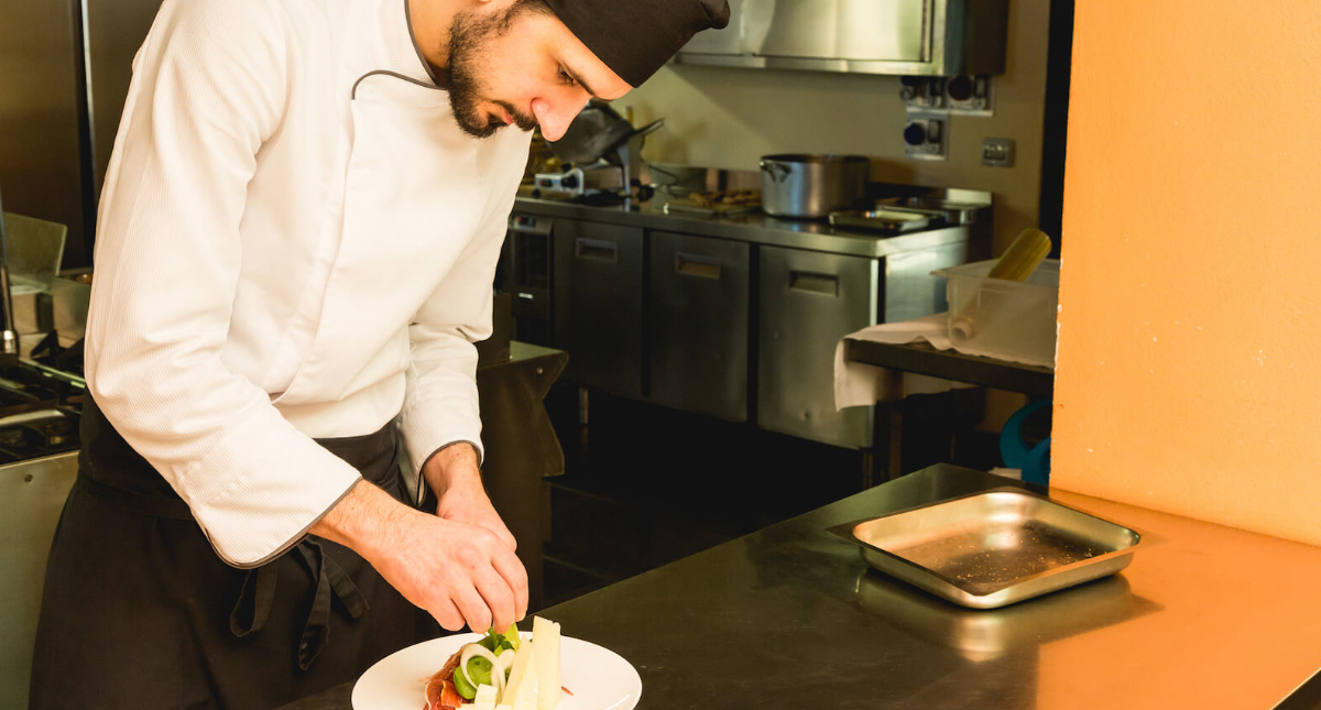
[[[564,379],[642,397],[642,230],[556,220],[555,344]]]

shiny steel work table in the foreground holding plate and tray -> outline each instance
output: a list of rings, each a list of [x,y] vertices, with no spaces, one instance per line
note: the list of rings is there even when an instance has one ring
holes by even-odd
[[[642,709],[1313,707],[1321,548],[1058,492],[1140,531],[1132,565],[974,611],[826,532],[1012,483],[933,466],[542,615],[631,661]],[[350,690],[287,709],[347,709]]]

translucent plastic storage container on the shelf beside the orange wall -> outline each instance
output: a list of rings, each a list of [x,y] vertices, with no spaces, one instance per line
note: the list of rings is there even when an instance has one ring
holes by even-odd
[[[946,278],[950,343],[978,355],[1053,366],[1059,260],[1044,260],[1026,281],[988,278],[995,263],[931,272]]]

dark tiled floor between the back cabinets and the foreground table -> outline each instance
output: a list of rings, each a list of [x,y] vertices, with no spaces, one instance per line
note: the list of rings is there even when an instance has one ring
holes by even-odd
[[[701,552],[861,488],[861,454],[592,395],[547,397],[565,454],[551,484],[547,606]]]

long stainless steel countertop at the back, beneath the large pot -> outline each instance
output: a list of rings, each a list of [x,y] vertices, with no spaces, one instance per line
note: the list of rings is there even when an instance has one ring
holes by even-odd
[[[839,231],[828,222],[775,219],[760,211],[733,216],[666,214],[658,201],[626,210],[624,207],[576,205],[559,199],[518,197],[514,202],[514,211],[872,259],[946,244],[960,244],[970,239],[970,228],[962,226],[885,236]]]

